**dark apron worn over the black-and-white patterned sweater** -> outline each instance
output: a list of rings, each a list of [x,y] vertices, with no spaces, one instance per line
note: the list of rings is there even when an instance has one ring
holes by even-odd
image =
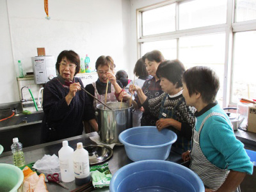
[[[177,104],[172,108],[172,110],[168,110],[168,109],[164,108],[164,102],[166,99],[168,99],[168,93],[166,93],[163,97],[158,118],[159,119],[160,118],[173,118],[174,120],[176,120],[176,115],[175,115],[176,109],[183,102],[184,97],[182,97],[181,99],[178,100]],[[177,141],[172,144],[172,147],[175,147],[175,148],[172,148],[173,150],[175,150],[175,152],[182,154],[182,152],[186,152],[187,150],[191,149],[191,141],[180,136],[179,130],[175,129],[172,126],[168,127],[168,129],[172,130],[173,132],[175,132],[177,134]]]

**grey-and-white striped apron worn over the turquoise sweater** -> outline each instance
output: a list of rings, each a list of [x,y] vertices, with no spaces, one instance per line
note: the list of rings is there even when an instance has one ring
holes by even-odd
[[[202,179],[202,181],[204,182],[205,188],[217,190],[223,184],[223,182],[227,178],[227,175],[230,171],[227,170],[227,168],[225,169],[218,168],[217,166],[212,164],[210,161],[208,161],[208,159],[204,156],[200,148],[200,139],[199,139],[200,132],[202,131],[205,121],[210,116],[222,116],[223,118],[225,118],[225,116],[222,115],[221,113],[212,112],[204,118],[198,132],[196,131],[195,128],[193,129],[193,135],[192,135],[193,147],[190,152],[191,164],[189,168],[193,170],[193,172],[195,172],[200,177],[200,179]],[[240,187],[238,187],[236,191],[240,191]]]

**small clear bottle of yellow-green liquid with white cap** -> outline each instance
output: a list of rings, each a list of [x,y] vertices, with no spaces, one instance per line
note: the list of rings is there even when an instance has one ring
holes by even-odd
[[[18,138],[13,138],[12,153],[13,153],[13,164],[17,167],[25,165],[24,153],[22,150],[22,143],[19,142]]]

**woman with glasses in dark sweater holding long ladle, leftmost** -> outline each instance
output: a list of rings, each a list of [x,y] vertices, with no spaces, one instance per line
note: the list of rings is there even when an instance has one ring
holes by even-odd
[[[62,51],[56,70],[58,76],[44,87],[43,143],[82,134],[83,121],[88,121],[98,131],[89,96],[81,90],[84,87],[81,79],[75,77],[80,70],[79,55],[74,51]]]

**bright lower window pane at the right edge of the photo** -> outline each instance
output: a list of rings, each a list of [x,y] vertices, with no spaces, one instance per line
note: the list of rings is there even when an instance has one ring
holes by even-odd
[[[236,33],[234,39],[234,65],[232,102],[243,98],[256,98],[256,31]]]

